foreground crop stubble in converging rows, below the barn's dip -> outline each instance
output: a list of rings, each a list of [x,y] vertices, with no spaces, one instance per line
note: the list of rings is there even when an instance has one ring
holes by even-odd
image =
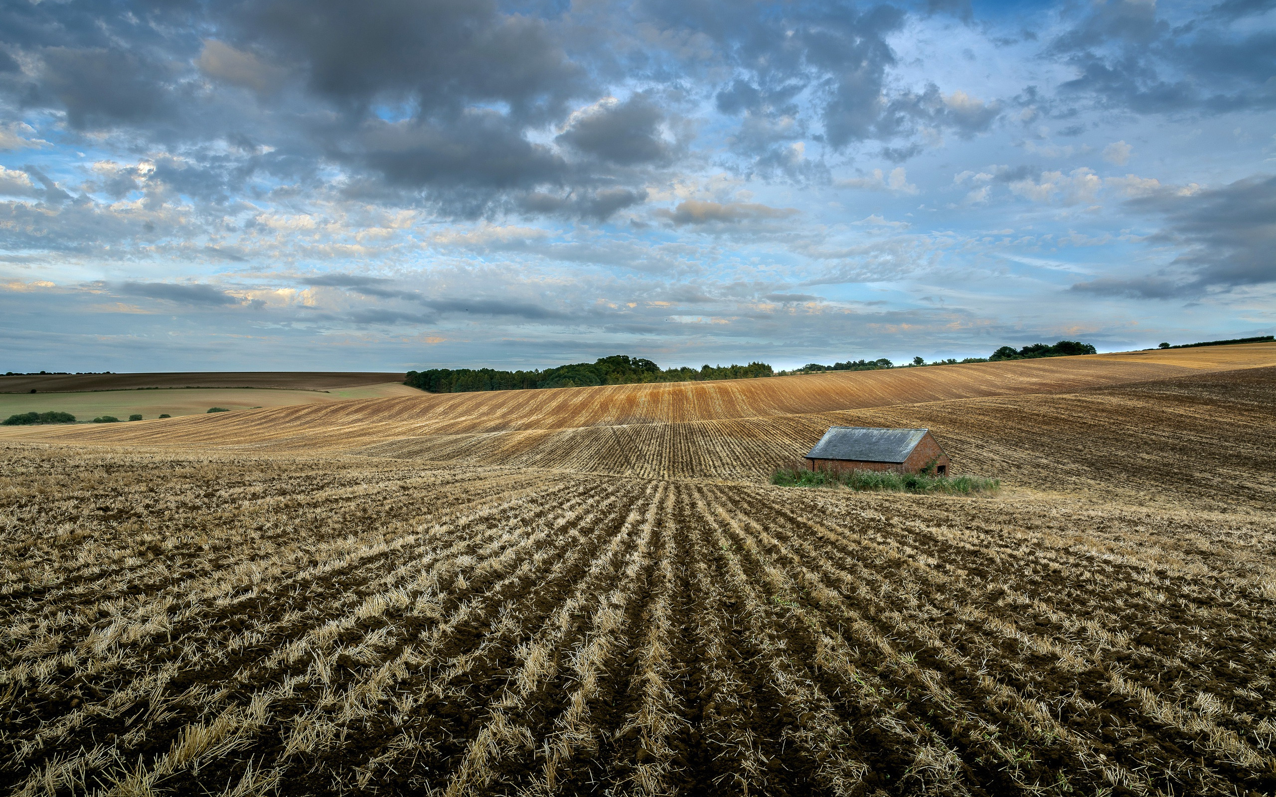
[[[4,458],[14,793],[1276,788],[1263,514]]]

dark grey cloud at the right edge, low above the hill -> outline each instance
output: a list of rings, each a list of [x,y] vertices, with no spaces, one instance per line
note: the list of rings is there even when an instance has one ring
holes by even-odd
[[[1073,291],[1175,298],[1276,283],[1276,176],[1247,177],[1188,196],[1164,191],[1128,204],[1164,216],[1166,226],[1154,240],[1185,245],[1187,251],[1156,274],[1100,278]]]

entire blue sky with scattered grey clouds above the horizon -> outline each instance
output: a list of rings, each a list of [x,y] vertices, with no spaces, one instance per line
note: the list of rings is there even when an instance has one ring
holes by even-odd
[[[0,372],[1276,332],[1276,0],[0,0]]]

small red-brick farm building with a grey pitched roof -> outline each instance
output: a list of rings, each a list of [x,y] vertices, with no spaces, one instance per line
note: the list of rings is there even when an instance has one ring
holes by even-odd
[[[806,454],[812,471],[898,471],[916,473],[934,465],[948,474],[948,454],[929,428],[831,426]]]

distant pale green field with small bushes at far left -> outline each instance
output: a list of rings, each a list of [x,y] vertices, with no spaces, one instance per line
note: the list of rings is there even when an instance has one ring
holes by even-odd
[[[126,418],[140,413],[151,420],[163,413],[199,414],[209,407],[249,409],[288,407],[388,395],[422,395],[416,388],[397,383],[322,390],[272,390],[264,388],[176,388],[160,390],[100,390],[92,393],[6,393],[0,394],[0,421],[19,412],[69,412],[77,421],[97,416]]]

